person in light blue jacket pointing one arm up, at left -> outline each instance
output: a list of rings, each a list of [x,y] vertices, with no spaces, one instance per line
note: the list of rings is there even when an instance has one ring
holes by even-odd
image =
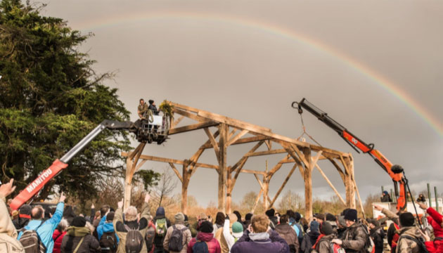
[[[51,219],[43,221],[44,219],[44,209],[41,205],[38,205],[31,210],[31,220],[24,227],[24,230],[33,230],[39,235],[39,240],[46,247],[46,252],[52,252],[54,247],[54,240],[52,235],[56,230],[58,223],[60,223],[63,216],[63,209],[65,207],[65,194],[62,192],[60,194],[60,199],[58,200],[56,212],[53,214]],[[20,240],[23,231],[18,234],[18,240]]]

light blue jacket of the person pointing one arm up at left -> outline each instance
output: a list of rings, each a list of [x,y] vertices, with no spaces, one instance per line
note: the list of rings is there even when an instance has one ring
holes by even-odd
[[[64,207],[65,203],[59,202],[57,204],[56,212],[53,214],[52,218],[44,221],[41,226],[41,220],[31,220],[29,223],[27,223],[27,226],[25,226],[25,230],[35,230],[38,227],[37,234],[39,235],[41,242],[43,242],[44,246],[46,247],[46,252],[48,253],[51,253],[54,247],[52,234],[62,219]],[[20,240],[22,234],[23,232],[18,234],[18,240]]]

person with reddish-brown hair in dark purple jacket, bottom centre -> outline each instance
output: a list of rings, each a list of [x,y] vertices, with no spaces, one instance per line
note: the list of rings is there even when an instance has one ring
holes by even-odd
[[[267,215],[252,216],[250,227],[232,246],[231,253],[289,252],[288,243],[271,230],[270,223]]]

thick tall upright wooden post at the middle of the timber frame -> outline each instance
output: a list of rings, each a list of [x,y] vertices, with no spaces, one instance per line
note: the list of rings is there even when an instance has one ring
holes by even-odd
[[[228,137],[228,126],[219,124],[219,210],[226,212],[226,138]]]

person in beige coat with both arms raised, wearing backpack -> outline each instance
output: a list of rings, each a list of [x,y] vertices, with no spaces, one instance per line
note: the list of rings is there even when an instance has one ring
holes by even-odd
[[[143,244],[143,246],[141,247],[141,253],[147,252],[146,243],[144,243],[143,238],[145,238],[146,231],[148,230],[149,200],[150,195],[149,193],[146,193],[143,206],[141,207],[141,216],[138,221],[136,207],[130,206],[126,210],[124,210],[123,220],[123,200],[117,203],[117,210],[115,211],[113,220],[115,233],[117,233],[117,236],[120,240],[117,247],[117,252],[126,252],[125,245],[126,235],[128,233],[127,228],[140,231]]]

